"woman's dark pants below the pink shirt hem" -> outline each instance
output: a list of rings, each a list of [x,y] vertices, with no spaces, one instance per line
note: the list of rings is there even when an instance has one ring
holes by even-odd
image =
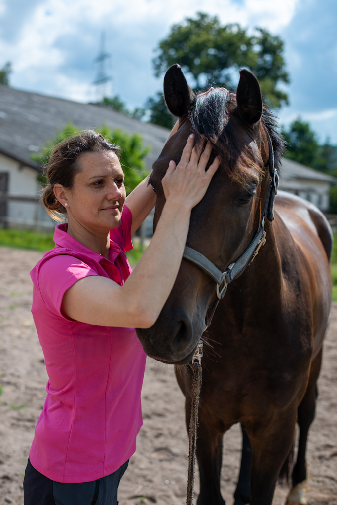
[[[118,505],[118,485],[128,463],[99,480],[61,484],[40,474],[28,459],[23,481],[24,505]]]

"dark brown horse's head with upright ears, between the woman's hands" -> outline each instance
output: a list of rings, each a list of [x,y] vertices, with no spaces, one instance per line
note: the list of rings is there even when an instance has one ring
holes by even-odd
[[[151,183],[157,192],[154,228],[165,196],[161,180],[169,161],[179,162],[188,135],[204,135],[221,165],[203,200],[192,210],[186,245],[225,271],[261,227],[270,178],[269,144],[259,83],[240,71],[236,94],[216,88],[197,96],[179,65],[165,76],[168,109],[179,118],[177,131],[154,163]],[[210,160],[210,163],[212,159]],[[147,354],[166,363],[187,362],[205,329],[205,317],[216,300],[215,281],[197,265],[182,260],[171,294],[154,326],[137,330]]]

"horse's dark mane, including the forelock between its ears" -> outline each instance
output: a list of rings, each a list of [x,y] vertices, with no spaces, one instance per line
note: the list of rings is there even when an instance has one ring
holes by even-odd
[[[197,139],[205,135],[214,145],[215,155],[223,161],[222,169],[232,180],[245,182],[252,165],[258,171],[261,171],[261,168],[255,164],[251,150],[245,148],[237,135],[237,118],[235,93],[220,88],[198,96],[189,111],[189,119]],[[277,130],[277,117],[265,106],[262,124],[272,139],[275,167],[279,170],[284,140]],[[238,159],[240,163],[237,163]]]

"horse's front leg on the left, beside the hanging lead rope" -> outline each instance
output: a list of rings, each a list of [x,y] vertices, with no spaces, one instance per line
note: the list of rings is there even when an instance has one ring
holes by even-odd
[[[186,422],[189,425],[190,404],[186,401]],[[199,408],[197,458],[200,472],[198,505],[226,505],[220,493],[222,436]]]

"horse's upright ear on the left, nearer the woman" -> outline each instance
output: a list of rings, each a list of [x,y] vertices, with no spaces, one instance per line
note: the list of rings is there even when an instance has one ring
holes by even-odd
[[[188,112],[191,103],[196,99],[195,92],[188,86],[177,63],[165,74],[164,96],[168,110],[178,118]]]

